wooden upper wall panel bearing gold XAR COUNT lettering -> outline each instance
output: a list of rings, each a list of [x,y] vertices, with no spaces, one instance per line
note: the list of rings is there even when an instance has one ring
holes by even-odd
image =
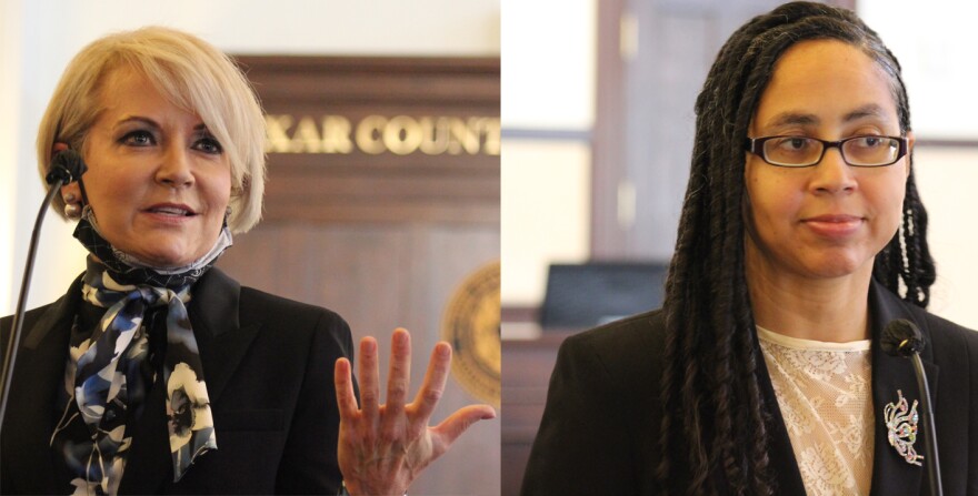
[[[266,220],[499,222],[499,60],[242,57]]]

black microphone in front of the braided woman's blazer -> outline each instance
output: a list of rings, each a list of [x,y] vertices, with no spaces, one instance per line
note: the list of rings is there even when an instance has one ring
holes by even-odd
[[[930,480],[931,496],[942,496],[944,488],[940,484],[940,460],[937,456],[937,429],[934,425],[934,412],[930,409],[930,387],[927,385],[927,374],[924,372],[924,363],[920,362],[920,352],[924,351],[924,334],[917,325],[905,318],[890,321],[882,330],[879,342],[882,351],[890,356],[910,358],[914,363],[914,373],[917,376],[917,389],[920,393],[920,415],[924,425],[927,426],[924,449],[927,453],[927,478]]]

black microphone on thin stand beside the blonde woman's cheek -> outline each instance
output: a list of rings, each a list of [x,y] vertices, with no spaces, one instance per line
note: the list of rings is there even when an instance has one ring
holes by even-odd
[[[51,161],[51,170],[44,180],[51,185],[48,194],[44,196],[41,209],[38,211],[38,217],[34,221],[34,229],[31,232],[30,247],[27,253],[27,263],[23,269],[23,280],[20,283],[20,295],[17,298],[17,310],[13,312],[13,322],[10,326],[10,336],[7,340],[7,352],[3,354],[3,370],[0,372],[0,386],[2,386],[2,396],[0,396],[0,429],[3,426],[3,419],[7,417],[7,401],[10,396],[10,381],[13,376],[13,363],[17,360],[17,348],[20,347],[20,334],[23,327],[23,310],[27,304],[27,294],[30,290],[30,277],[34,269],[34,256],[38,251],[38,239],[41,234],[41,224],[44,222],[44,214],[48,206],[51,205],[51,199],[61,189],[61,186],[81,180],[81,174],[88,168],[81,159],[81,154],[73,150],[63,150],[58,152]]]

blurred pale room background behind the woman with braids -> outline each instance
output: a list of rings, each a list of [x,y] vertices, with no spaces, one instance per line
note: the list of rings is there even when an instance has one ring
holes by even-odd
[[[774,0],[502,0],[503,494],[516,494],[557,347],[660,305],[693,102]],[[930,311],[978,328],[978,7],[839,0],[904,65],[937,262]],[[638,297],[636,297],[638,296]]]

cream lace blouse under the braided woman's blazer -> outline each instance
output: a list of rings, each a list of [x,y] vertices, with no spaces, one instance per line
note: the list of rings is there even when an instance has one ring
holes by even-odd
[[[869,340],[826,343],[757,330],[806,492],[868,495],[874,442]]]

